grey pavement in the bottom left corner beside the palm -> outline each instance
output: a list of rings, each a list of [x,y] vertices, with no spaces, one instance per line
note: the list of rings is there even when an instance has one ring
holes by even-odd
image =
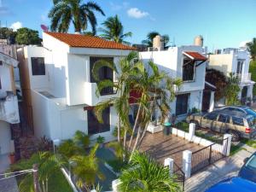
[[[0,155],[0,174],[6,172],[9,168],[8,155]],[[0,179],[3,176],[0,175]],[[19,192],[15,177],[9,179],[0,180],[0,192]]]

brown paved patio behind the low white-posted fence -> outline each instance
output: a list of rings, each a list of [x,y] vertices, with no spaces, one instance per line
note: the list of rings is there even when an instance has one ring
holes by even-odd
[[[171,157],[181,167],[184,150],[195,152],[201,148],[204,147],[195,143],[189,143],[181,137],[166,136],[160,131],[154,134],[147,133],[140,151],[147,152],[161,164],[164,163],[166,158]]]

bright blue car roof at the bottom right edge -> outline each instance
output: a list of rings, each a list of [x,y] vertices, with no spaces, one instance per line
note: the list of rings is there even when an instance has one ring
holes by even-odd
[[[213,185],[205,192],[255,192],[256,183],[242,177],[231,177]]]

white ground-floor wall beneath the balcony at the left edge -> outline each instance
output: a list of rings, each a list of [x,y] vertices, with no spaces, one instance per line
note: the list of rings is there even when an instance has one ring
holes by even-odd
[[[0,154],[10,153],[11,131],[9,123],[0,120]]]

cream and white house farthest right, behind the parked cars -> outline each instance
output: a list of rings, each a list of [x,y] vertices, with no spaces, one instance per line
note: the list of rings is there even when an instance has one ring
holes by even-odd
[[[250,54],[246,49],[224,49],[223,53],[209,55],[209,68],[217,69],[229,76],[234,73],[240,79],[241,91],[238,98],[241,102],[246,102],[248,98],[253,98],[253,82],[249,72]],[[224,101],[219,101],[218,105],[223,105]]]

